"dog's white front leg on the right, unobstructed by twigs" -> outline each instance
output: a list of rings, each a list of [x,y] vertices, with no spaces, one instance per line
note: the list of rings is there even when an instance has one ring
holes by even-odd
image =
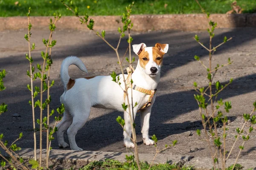
[[[143,137],[143,143],[145,145],[153,145],[155,144],[153,140],[149,139],[148,137],[148,130],[149,130],[149,118],[151,114],[151,107],[145,108],[144,110],[140,111],[140,124],[141,124],[141,133]]]

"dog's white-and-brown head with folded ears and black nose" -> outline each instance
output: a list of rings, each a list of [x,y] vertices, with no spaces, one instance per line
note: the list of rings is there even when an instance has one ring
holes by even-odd
[[[163,65],[163,54],[169,48],[168,44],[157,43],[154,47],[146,47],[144,43],[132,45],[133,51],[139,56],[140,67],[145,74],[155,77]]]

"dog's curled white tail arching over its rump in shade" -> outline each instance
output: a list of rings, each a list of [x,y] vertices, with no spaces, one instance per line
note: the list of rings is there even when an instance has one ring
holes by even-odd
[[[84,63],[78,57],[70,56],[65,58],[61,64],[61,82],[65,90],[67,88],[67,83],[70,80],[70,76],[68,74],[68,67],[70,65],[76,65],[81,71],[88,73]]]

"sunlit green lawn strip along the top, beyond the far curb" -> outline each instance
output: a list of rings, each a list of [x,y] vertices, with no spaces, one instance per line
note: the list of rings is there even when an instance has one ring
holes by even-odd
[[[67,0],[66,0],[67,1]],[[195,0],[134,0],[132,14],[192,14],[201,13]],[[16,2],[16,4],[15,4]],[[18,3],[17,3],[18,2]],[[132,0],[73,0],[81,15],[121,15]],[[231,10],[233,0],[199,0],[211,14]],[[256,12],[256,0],[237,0],[243,13]],[[165,8],[165,4],[167,4]],[[59,0],[0,0],[0,17],[26,16],[28,8],[32,16],[51,16],[59,12],[63,16],[73,15]],[[88,7],[88,8],[87,8]]]

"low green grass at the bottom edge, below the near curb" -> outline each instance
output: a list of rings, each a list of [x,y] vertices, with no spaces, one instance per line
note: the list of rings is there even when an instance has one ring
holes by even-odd
[[[141,169],[148,170],[150,164],[141,162]],[[136,163],[131,162],[120,162],[113,159],[106,159],[105,161],[93,161],[80,168],[79,170],[136,170],[137,166]],[[183,166],[179,167],[176,164],[154,164],[151,167],[151,170],[194,170],[194,168]]]

